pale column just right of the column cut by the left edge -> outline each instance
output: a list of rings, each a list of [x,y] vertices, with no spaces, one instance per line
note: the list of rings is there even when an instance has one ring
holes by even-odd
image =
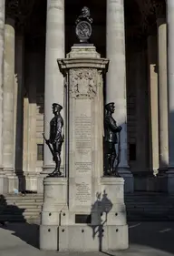
[[[4,70],[4,123],[3,123],[3,161],[9,180],[9,192],[17,189],[14,182],[14,19],[5,23],[5,70]]]

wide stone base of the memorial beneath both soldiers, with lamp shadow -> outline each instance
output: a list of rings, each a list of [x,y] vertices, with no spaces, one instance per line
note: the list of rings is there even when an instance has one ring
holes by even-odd
[[[88,208],[77,205],[71,209],[66,202],[67,180],[44,179],[41,250],[117,251],[129,247],[124,180],[102,178],[99,183],[101,197]]]

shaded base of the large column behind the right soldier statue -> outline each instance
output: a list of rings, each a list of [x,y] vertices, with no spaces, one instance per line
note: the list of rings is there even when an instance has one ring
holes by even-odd
[[[134,191],[134,178],[129,167],[119,167],[119,174],[124,178],[124,192],[133,193]]]

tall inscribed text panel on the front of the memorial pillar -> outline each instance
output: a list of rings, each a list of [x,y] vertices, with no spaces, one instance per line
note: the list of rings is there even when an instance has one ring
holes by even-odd
[[[76,206],[92,204],[92,100],[75,99],[73,141]]]

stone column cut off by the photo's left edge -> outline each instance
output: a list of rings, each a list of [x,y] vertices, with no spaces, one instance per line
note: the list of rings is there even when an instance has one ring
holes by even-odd
[[[7,179],[3,174],[3,85],[5,55],[5,0],[0,1],[0,193],[7,192]]]

